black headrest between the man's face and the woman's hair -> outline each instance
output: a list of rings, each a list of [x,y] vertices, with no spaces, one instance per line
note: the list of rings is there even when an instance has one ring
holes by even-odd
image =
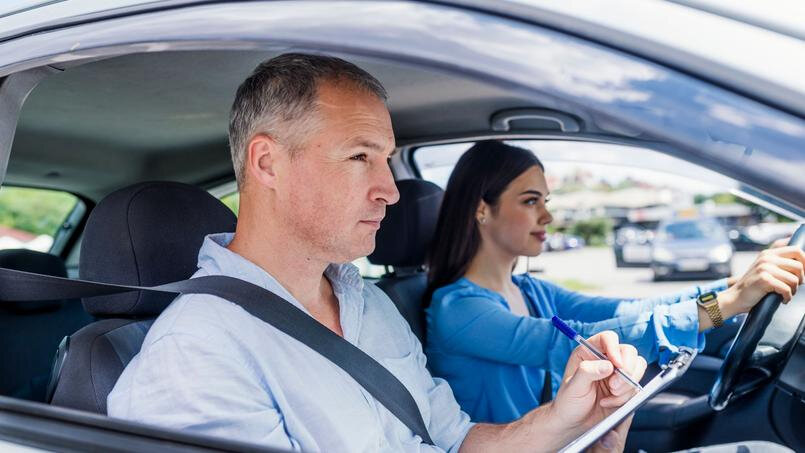
[[[386,217],[377,232],[373,264],[399,268],[425,264],[444,191],[430,181],[397,181],[400,201],[386,208]]]

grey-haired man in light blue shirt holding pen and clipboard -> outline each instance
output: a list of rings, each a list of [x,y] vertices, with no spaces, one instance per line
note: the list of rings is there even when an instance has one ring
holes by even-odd
[[[389,299],[349,263],[369,254],[399,198],[386,94],[345,61],[286,54],[238,89],[230,143],[234,234],[214,234],[195,276],[263,286],[341,335],[408,389],[435,446],[307,346],[210,295],[177,298],[108,398],[109,415],[305,451],[555,451],[633,394],[607,361],[571,357],[556,400],[508,425],[472,424],[431,377]],[[635,379],[645,361],[611,332],[591,339]],[[628,423],[599,447],[623,447]]]

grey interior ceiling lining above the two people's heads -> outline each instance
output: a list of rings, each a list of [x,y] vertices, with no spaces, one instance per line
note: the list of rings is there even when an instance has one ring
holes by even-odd
[[[94,197],[140,178],[226,179],[232,175],[227,125],[234,93],[259,62],[275,55],[259,50],[137,53],[53,74],[23,106],[12,150],[18,160],[10,162],[7,181],[41,183],[49,173],[61,188]],[[348,59],[386,87],[398,144],[488,133],[495,112],[529,105],[516,93],[469,78]],[[587,116],[581,109],[575,113]],[[587,130],[600,131],[594,122],[587,124]],[[60,151],[65,145],[73,152]],[[47,168],[25,166],[29,159]],[[118,167],[103,171],[110,164]]]

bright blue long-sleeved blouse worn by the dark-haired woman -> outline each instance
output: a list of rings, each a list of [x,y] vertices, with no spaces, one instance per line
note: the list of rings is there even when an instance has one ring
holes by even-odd
[[[540,404],[545,373],[556,394],[577,346],[551,325],[554,315],[584,337],[614,330],[652,362],[677,346],[704,348],[695,298],[726,279],[664,297],[623,300],[568,291],[528,275],[512,276],[533,316],[509,310],[500,294],[461,278],[439,288],[427,310],[429,366],[450,383],[476,422],[505,423]]]

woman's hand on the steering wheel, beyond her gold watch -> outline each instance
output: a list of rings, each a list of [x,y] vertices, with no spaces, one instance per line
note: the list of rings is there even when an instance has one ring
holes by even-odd
[[[775,243],[774,245],[778,245]],[[763,250],[746,273],[718,295],[724,319],[747,313],[763,296],[777,293],[788,303],[805,280],[805,252],[796,246]]]

